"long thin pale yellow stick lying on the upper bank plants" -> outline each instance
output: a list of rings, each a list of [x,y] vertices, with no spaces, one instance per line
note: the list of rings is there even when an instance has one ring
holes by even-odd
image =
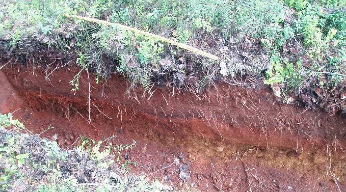
[[[83,20],[86,20],[86,21],[92,21],[92,22],[96,22],[96,23],[103,23],[103,24],[107,24],[107,25],[111,25],[111,26],[115,24],[116,26],[119,26],[119,28],[122,28],[122,29],[125,29],[125,30],[129,30],[129,31],[132,31],[132,32],[136,32],[136,33],[139,33],[139,34],[143,34],[143,35],[146,35],[146,36],[149,36],[149,37],[155,37],[155,38],[157,38],[157,39],[159,39],[161,41],[164,41],[164,42],[176,45],[178,47],[181,47],[181,48],[193,51],[195,53],[201,54],[202,56],[205,56],[205,57],[208,57],[208,58],[211,58],[211,59],[214,59],[214,60],[218,60],[219,59],[217,56],[214,56],[214,54],[210,54],[210,53],[207,53],[207,52],[202,51],[200,49],[196,49],[195,47],[189,46],[187,44],[179,43],[179,42],[176,42],[176,41],[173,41],[173,40],[170,40],[170,39],[167,39],[165,37],[161,37],[161,36],[149,33],[149,32],[144,32],[144,31],[141,31],[141,30],[137,30],[135,28],[130,28],[129,26],[125,26],[125,25],[122,25],[122,24],[111,23],[111,22],[108,22],[108,21],[103,21],[103,20],[94,19],[94,18],[90,18],[90,17],[82,17],[82,16],[77,16],[77,15],[64,15],[64,16],[66,16],[66,17],[74,17],[74,18],[77,18],[77,19],[83,19]]]

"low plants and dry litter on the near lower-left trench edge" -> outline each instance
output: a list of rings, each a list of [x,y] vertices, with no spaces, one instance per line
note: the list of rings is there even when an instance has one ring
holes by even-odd
[[[78,147],[62,150],[56,141],[28,132],[11,114],[0,114],[0,190],[172,191],[159,181],[130,175],[127,165],[135,162],[122,163],[120,151],[130,150],[136,142],[112,146],[110,139],[96,144],[81,136]]]

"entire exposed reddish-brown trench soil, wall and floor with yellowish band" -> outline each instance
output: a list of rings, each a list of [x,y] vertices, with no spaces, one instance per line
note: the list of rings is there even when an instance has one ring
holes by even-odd
[[[95,141],[116,135],[115,145],[138,141],[122,152],[138,162],[129,165],[132,171],[153,173],[150,179],[177,189],[338,191],[338,185],[346,191],[346,125],[338,115],[282,103],[261,85],[127,94],[120,75],[96,84],[94,75],[82,73],[74,93],[69,82],[76,70],[61,69],[48,79],[37,68],[4,68],[0,113],[14,112],[34,133],[54,127],[41,135],[57,134],[63,148],[76,146],[78,135]],[[179,179],[178,165],[163,169],[179,155],[185,158],[180,163],[191,161],[187,183]]]

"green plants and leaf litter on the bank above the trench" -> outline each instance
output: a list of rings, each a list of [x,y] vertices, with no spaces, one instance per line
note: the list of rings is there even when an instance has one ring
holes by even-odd
[[[31,48],[37,42],[73,52],[75,60],[64,60],[61,67],[81,66],[71,78],[74,91],[81,72],[89,70],[97,81],[121,72],[131,82],[129,89],[141,85],[148,90],[152,84],[201,89],[247,76],[280,87],[284,96],[292,91],[299,95],[304,88],[343,89],[345,7],[342,0],[9,0],[1,3],[0,39],[7,60],[20,54],[21,62],[35,63],[39,58]],[[219,60],[116,25],[63,14],[131,26],[187,43]]]

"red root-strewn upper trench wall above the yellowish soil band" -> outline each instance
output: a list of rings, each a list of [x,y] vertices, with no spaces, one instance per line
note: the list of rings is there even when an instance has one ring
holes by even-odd
[[[75,68],[60,69],[49,78],[39,69],[3,70],[35,110],[55,105],[69,118],[81,115],[98,124],[96,129],[112,125],[188,149],[192,138],[296,151],[324,150],[336,141],[346,146],[344,118],[282,103],[264,85],[221,84],[203,93],[153,87],[151,93],[141,88],[127,93],[128,84],[121,75],[97,84],[94,75],[83,72],[79,89],[72,92]]]

